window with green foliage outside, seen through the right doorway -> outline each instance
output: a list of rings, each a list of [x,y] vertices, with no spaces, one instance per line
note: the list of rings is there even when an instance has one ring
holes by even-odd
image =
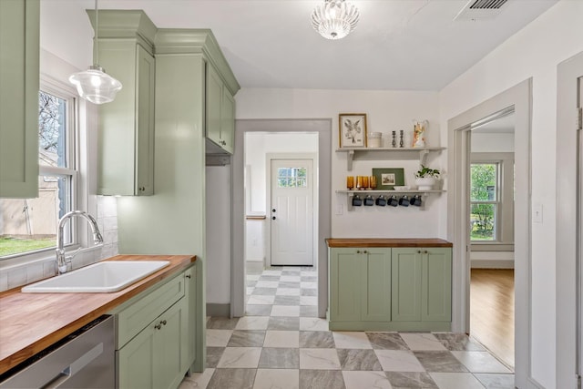
[[[499,164],[473,163],[470,175],[471,240],[496,241]]]

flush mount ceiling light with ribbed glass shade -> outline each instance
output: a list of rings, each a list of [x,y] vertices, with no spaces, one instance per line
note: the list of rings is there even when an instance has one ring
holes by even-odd
[[[326,39],[342,39],[356,28],[358,8],[344,0],[324,0],[312,12],[312,27]]]

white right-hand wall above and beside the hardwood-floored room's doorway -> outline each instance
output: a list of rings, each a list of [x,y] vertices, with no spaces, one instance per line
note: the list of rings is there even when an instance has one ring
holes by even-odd
[[[489,97],[533,77],[532,203],[544,208],[532,224],[532,361],[538,384],[556,386],[555,198],[557,65],[583,51],[583,2],[563,0],[510,37],[439,94],[441,126]],[[440,220],[443,221],[444,219]]]

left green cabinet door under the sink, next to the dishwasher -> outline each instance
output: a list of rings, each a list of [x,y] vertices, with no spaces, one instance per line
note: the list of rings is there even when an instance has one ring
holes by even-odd
[[[154,387],[155,328],[152,322],[116,353],[119,389],[149,389]]]

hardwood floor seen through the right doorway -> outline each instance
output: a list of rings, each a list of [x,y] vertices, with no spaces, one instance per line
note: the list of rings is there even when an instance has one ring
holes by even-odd
[[[514,270],[472,269],[470,335],[514,368]]]

